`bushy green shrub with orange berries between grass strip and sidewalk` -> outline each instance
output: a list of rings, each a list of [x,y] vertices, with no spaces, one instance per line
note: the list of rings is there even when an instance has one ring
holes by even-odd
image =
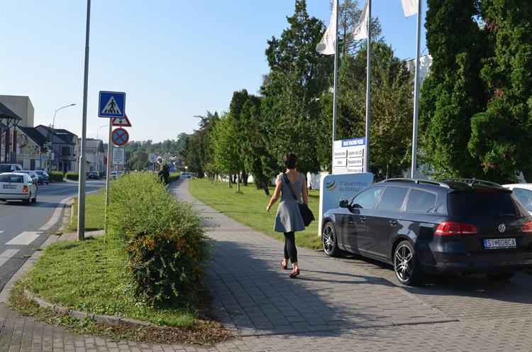
[[[118,177],[110,189],[109,231],[126,242],[135,294],[145,302],[186,304],[196,297],[211,249],[201,219],[157,175]]]

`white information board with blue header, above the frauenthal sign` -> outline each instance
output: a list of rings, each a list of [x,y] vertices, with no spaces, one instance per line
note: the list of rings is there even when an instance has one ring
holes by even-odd
[[[334,141],[333,175],[364,172],[366,138]]]

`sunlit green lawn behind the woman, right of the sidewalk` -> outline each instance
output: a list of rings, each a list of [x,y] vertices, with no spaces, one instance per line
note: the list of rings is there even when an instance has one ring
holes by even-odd
[[[241,187],[241,189],[241,193],[236,193],[236,187],[229,188],[227,182],[211,182],[207,179],[197,179],[190,182],[190,192],[201,202],[241,224],[272,237],[284,239],[282,233],[273,231],[279,201],[268,214],[265,209],[270,197],[265,194],[264,190],[257,189],[253,184],[248,187]],[[273,191],[273,187],[270,188],[270,195],[273,194]],[[309,190],[309,207],[317,219],[319,191]],[[306,248],[321,248],[321,238],[318,237],[318,221],[313,221],[305,231],[297,232],[296,243],[297,246]]]

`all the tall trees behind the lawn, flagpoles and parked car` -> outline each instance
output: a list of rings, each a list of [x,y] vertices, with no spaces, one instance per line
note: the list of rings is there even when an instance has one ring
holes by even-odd
[[[526,0],[428,0],[431,74],[421,88],[421,161],[436,177],[532,180],[532,3]],[[365,134],[366,40],[349,33],[356,1],[340,6],[338,139]],[[316,53],[324,24],[296,0],[279,38],[267,41],[270,71],[259,94],[233,94],[229,110],[200,116],[182,155],[202,175],[253,175],[267,193],[282,155],[301,172],[331,170],[333,57]],[[402,175],[411,159],[413,80],[372,19],[370,170]],[[244,180],[247,177],[243,177]]]

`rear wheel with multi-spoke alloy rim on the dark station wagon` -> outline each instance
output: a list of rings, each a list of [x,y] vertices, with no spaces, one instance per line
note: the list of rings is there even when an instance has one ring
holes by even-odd
[[[423,282],[423,272],[410,241],[402,241],[394,250],[394,272],[397,280],[406,286],[419,286]]]

